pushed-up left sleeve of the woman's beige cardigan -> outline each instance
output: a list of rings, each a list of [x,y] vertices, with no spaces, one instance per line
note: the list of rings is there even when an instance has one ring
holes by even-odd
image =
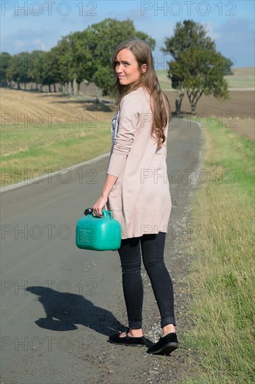
[[[121,101],[118,116],[118,131],[109,158],[107,174],[119,177],[125,167],[127,156],[134,141],[134,131],[139,117],[139,102],[134,95],[127,94]]]

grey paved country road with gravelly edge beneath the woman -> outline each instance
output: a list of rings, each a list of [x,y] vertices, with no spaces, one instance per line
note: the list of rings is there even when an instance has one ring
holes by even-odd
[[[190,265],[182,244],[190,197],[203,179],[203,136],[197,124],[179,123],[173,119],[167,143],[173,207],[165,262],[181,342]],[[166,357],[107,343],[127,325],[118,252],[75,246],[75,223],[98,198],[106,168],[107,157],[1,193],[1,383],[177,383],[187,374],[185,348]],[[150,345],[160,335],[160,318],[144,269],[143,279]]]

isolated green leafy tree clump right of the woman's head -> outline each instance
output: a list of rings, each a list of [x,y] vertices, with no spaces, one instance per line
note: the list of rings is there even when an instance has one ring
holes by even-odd
[[[185,90],[190,100],[192,113],[203,93],[217,98],[227,98],[227,82],[224,75],[229,71],[231,61],[216,51],[215,42],[206,36],[203,25],[184,20],[176,23],[174,34],[166,38],[162,52],[169,53],[168,77],[173,89],[177,89],[176,115],[180,115]]]

